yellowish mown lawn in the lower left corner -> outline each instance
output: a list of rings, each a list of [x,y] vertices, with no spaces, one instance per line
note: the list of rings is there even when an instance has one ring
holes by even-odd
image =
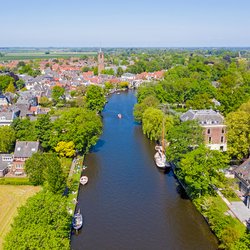
[[[10,230],[13,218],[17,214],[17,208],[40,189],[41,187],[34,186],[0,186],[0,250],[3,239]]]

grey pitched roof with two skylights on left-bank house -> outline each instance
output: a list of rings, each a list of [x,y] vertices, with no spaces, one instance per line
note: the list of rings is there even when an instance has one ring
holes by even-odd
[[[14,157],[29,158],[39,149],[38,141],[17,141]]]

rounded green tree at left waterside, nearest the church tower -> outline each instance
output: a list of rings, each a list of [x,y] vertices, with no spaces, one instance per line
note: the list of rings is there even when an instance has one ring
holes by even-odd
[[[97,112],[100,112],[106,103],[103,89],[96,85],[88,86],[85,98],[87,108]]]

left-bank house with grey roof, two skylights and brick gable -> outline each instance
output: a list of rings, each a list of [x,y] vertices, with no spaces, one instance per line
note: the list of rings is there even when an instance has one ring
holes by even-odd
[[[39,141],[17,141],[11,173],[14,175],[24,175],[25,161],[39,150],[41,150]]]

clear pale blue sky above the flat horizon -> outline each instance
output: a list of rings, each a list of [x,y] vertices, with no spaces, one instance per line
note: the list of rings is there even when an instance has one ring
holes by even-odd
[[[249,47],[250,0],[0,0],[0,47]]]

